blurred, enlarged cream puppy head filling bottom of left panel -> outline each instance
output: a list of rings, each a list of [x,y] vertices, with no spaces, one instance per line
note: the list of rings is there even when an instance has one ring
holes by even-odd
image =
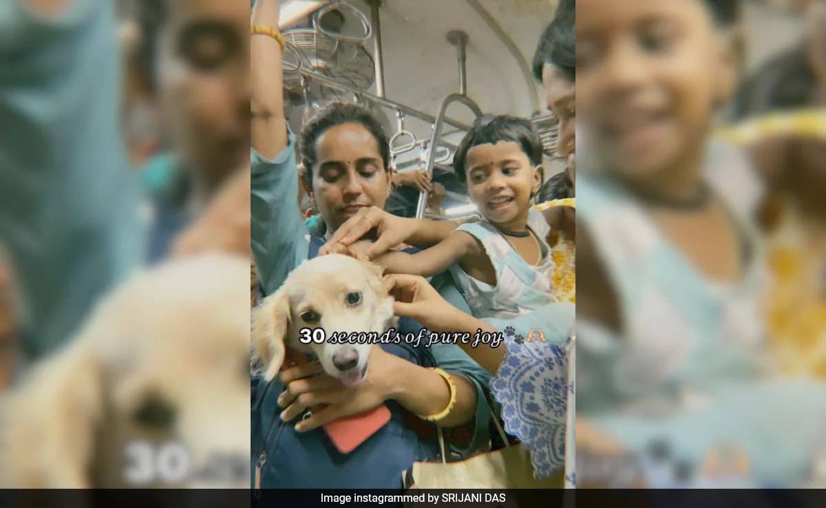
[[[0,412],[0,487],[249,487],[245,256],[140,273]]]

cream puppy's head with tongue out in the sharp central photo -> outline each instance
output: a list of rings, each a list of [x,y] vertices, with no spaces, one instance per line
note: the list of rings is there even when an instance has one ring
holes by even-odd
[[[326,373],[355,387],[367,372],[371,344],[331,344],[329,339],[342,332],[381,335],[395,325],[382,268],[330,254],[301,263],[278,292],[256,308],[253,346],[267,381],[278,375],[286,347],[315,356]],[[322,340],[304,344],[302,336]]]

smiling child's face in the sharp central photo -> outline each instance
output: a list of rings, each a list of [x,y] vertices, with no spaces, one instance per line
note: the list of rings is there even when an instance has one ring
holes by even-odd
[[[482,216],[494,224],[524,220],[530,198],[539,191],[539,171],[520,145],[500,141],[468,150],[468,194]]]

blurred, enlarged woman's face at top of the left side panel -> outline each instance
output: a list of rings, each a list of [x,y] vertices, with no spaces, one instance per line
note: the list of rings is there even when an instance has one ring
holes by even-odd
[[[249,163],[249,9],[174,0],[159,41],[164,124],[184,165],[207,182]]]

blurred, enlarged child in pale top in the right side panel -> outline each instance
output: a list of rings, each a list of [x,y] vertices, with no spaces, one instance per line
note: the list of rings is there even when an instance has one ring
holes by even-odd
[[[798,169],[764,187],[742,154],[707,144],[736,81],[719,23],[737,4],[577,2],[577,419],[634,451],[667,439],[692,466],[734,445],[760,481],[797,486],[826,391],[767,382],[755,217]]]

